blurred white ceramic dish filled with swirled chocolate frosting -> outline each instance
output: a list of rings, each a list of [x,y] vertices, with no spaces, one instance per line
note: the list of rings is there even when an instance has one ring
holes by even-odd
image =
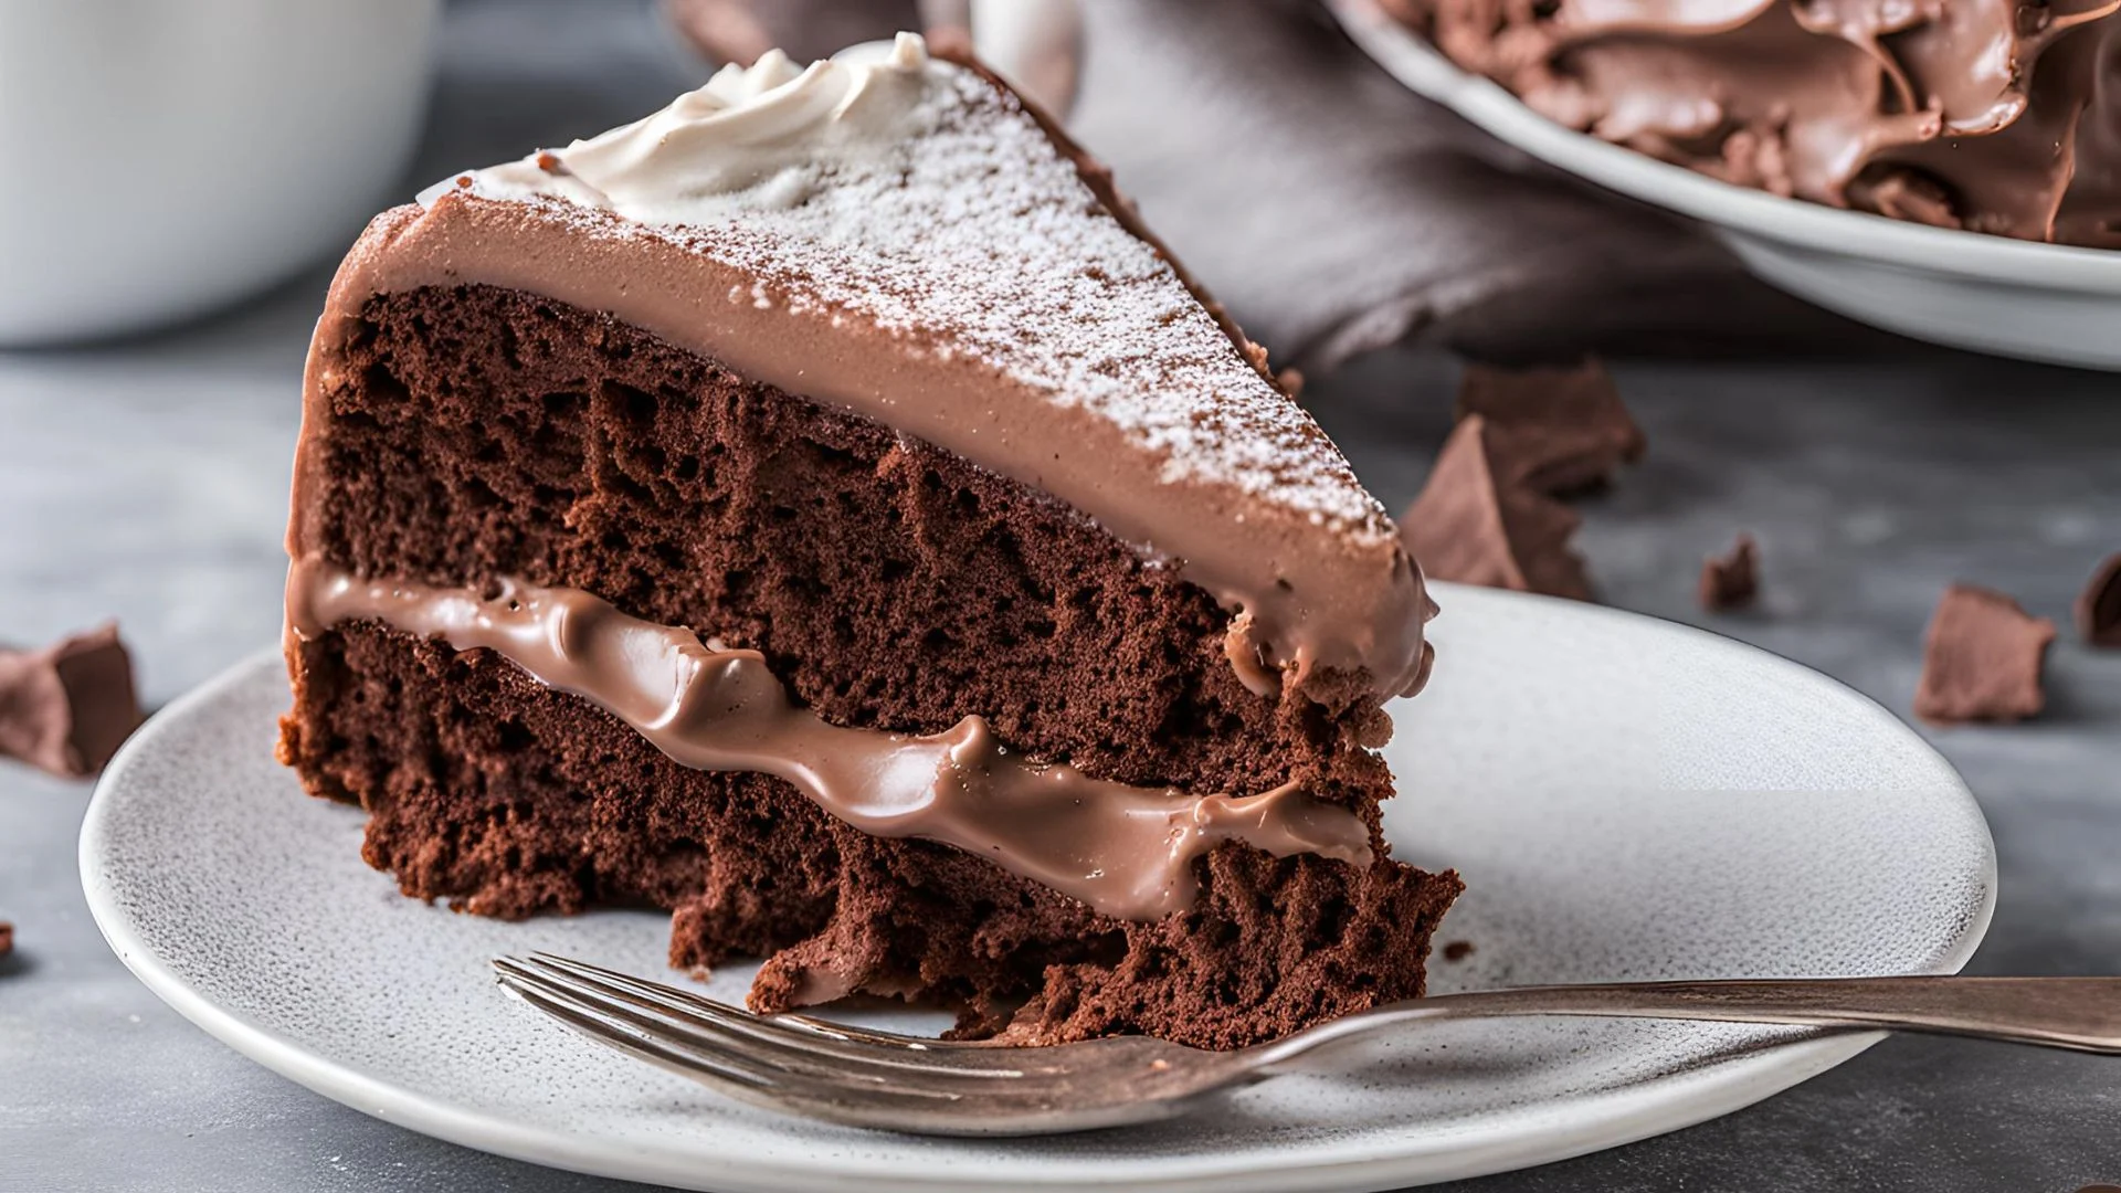
[[[1548,121],[1374,0],[1328,4],[1413,91],[1548,166],[1703,221],[1760,280],[1796,297],[1934,344],[2121,369],[2121,250],[1926,227],[1718,183]]]

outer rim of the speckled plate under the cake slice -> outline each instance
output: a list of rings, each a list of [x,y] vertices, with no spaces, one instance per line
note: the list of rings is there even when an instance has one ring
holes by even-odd
[[[1436,588],[1440,590],[1440,596],[1451,594],[1453,599],[1468,599],[1472,592],[1478,592],[1474,599],[1559,603],[1555,599],[1529,596],[1521,592],[1466,590],[1457,584],[1438,584]],[[1765,660],[1773,660],[1773,664],[1803,671],[1816,684],[1839,688],[1864,705],[1871,705],[1871,709],[1879,715],[1898,724],[1898,730],[1930,754],[1943,775],[1951,777],[1953,788],[1943,794],[1968,805],[1975,824],[1981,826],[1981,909],[1966,926],[1966,932],[1960,936],[1956,949],[1941,957],[1928,972],[1958,972],[1964,968],[1964,964],[1979,949],[1981,940],[1987,936],[1994,921],[1998,898],[1996,845],[1994,834],[1987,828],[1987,817],[1981,815],[1979,800],[1966,788],[1964,779],[1949,764],[1949,760],[1936,754],[1934,745],[1907,728],[1905,722],[1894,717],[1892,711],[1877,701],[1871,701],[1862,692],[1856,692],[1830,675],[1788,660],[1775,652],[1741,643],[1701,626],[1648,613],[1608,609],[1601,605],[1582,605],[1580,611],[1595,618],[1640,618],[1644,622],[1654,622],[1665,633],[1712,639],[1724,647],[1754,652],[1765,656]],[[280,647],[259,650],[163,707],[125,743],[123,749],[119,749],[117,758],[112,758],[104,777],[98,781],[95,796],[89,800],[89,809],[81,824],[81,883],[87,896],[89,913],[95,919],[98,930],[102,930],[104,940],[119,955],[125,968],[132,970],[134,976],[138,976],[157,998],[168,1002],[178,1015],[223,1044],[314,1093],[331,1097],[333,1102],[361,1110],[373,1119],[475,1151],[592,1176],[645,1180],[681,1189],[723,1189],[732,1193],[791,1189],[827,1191],[842,1189],[848,1178],[859,1178],[863,1185],[878,1191],[986,1189],[1001,1176],[1005,1176],[1012,1185],[1031,1189],[1088,1189],[1111,1180],[1109,1174],[1103,1178],[1067,1172],[1016,1170],[997,1174],[986,1165],[878,1174],[874,1161],[863,1165],[863,1161],[857,1159],[834,1161],[819,1159],[814,1155],[747,1161],[732,1153],[719,1153],[708,1159],[698,1151],[677,1151],[668,1146],[615,1148],[592,1136],[554,1136],[524,1125],[513,1125],[505,1117],[484,1110],[467,1110],[418,1089],[407,1089],[380,1076],[369,1076],[350,1066],[314,1055],[297,1040],[261,1027],[233,1008],[214,1004],[204,993],[187,985],[174,968],[163,964],[163,959],[155,955],[155,951],[125,917],[117,889],[108,883],[102,866],[100,845],[108,826],[108,809],[112,807],[112,800],[104,798],[104,790],[106,785],[119,783],[134,758],[138,758],[146,749],[146,743],[155,739],[157,722],[165,726],[174,724],[191,709],[214,703],[231,688],[257,684],[263,671],[278,669],[280,664]],[[1856,1057],[1881,1038],[1881,1032],[1813,1034],[1782,1044],[1769,1044],[1754,1053],[1716,1061],[1699,1070],[1644,1080],[1620,1091],[1603,1093],[1593,1104],[1591,1112],[1582,1112],[1580,1108],[1570,1110],[1574,1119],[1572,1123],[1555,1125],[1538,1134],[1529,1140],[1529,1146],[1521,1127],[1506,1129],[1502,1125],[1493,1125],[1485,1129],[1476,1127],[1470,1134],[1455,1131],[1447,1146],[1421,1146],[1419,1138],[1408,1140],[1406,1136],[1387,1136],[1364,1144],[1338,1144],[1343,1151],[1340,1155],[1319,1157],[1292,1153],[1290,1161],[1247,1155],[1243,1159],[1224,1159],[1217,1163],[1213,1155],[1194,1155],[1186,1157],[1190,1163],[1181,1172],[1130,1176],[1128,1185],[1167,1193],[1243,1189],[1396,1189],[1410,1182],[1457,1180],[1533,1168],[1720,1119],[1729,1112],[1782,1093],[1784,1089],[1801,1085]]]

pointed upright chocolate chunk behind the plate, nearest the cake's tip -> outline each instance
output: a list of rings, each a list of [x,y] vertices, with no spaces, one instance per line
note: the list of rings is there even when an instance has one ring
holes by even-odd
[[[1574,509],[1519,480],[1517,437],[1468,414],[1400,518],[1400,537],[1430,580],[1591,599],[1584,560],[1570,550]]]

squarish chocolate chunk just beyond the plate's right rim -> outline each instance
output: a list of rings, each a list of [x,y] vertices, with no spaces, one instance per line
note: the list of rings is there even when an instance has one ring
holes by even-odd
[[[2017,722],[2047,703],[2040,664],[2055,622],[2002,592],[1953,584],[1930,616],[1915,715],[1932,724]]]

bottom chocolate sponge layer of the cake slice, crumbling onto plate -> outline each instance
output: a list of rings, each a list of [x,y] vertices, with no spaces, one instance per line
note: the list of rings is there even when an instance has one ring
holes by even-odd
[[[946,845],[857,832],[781,779],[679,766],[492,652],[363,624],[301,658],[286,749],[322,792],[363,798],[363,855],[405,894],[498,917],[666,906],[674,966],[768,957],[759,1010],[870,991],[1024,1044],[1239,1047],[1417,996],[1459,889],[1224,847],[1192,911],[1122,921]]]

